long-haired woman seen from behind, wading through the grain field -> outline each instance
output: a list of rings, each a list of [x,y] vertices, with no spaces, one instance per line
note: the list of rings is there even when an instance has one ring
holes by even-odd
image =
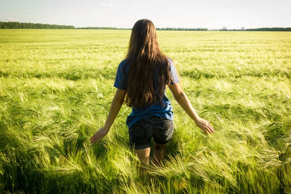
[[[99,143],[109,132],[125,101],[132,108],[126,121],[130,145],[140,161],[148,164],[153,137],[153,160],[157,164],[162,162],[165,146],[174,131],[174,117],[171,102],[165,94],[166,86],[195,124],[205,133],[213,133],[209,121],[198,116],[178,82],[175,65],[159,47],[154,24],[147,19],[138,20],[132,28],[126,59],[117,69],[114,82],[117,90],[105,125],[93,135],[91,143]]]

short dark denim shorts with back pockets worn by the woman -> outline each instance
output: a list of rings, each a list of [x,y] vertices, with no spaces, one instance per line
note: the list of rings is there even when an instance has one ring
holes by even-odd
[[[157,144],[166,144],[174,132],[174,122],[160,116],[150,116],[138,120],[129,129],[129,143],[135,149],[150,147],[151,138]]]

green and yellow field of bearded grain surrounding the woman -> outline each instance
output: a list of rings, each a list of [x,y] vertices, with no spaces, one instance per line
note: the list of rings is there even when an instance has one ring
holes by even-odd
[[[291,194],[291,32],[158,31],[206,135],[175,132],[141,177],[123,105],[100,144],[130,31],[0,30],[0,193]]]

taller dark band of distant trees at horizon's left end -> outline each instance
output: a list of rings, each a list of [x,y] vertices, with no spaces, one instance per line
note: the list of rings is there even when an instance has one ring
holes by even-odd
[[[75,29],[75,27],[55,24],[33,24],[33,23],[0,21],[0,29]]]

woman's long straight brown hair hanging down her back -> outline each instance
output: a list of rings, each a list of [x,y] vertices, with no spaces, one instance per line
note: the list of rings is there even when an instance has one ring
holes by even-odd
[[[169,60],[159,47],[156,28],[148,19],[138,20],[131,31],[129,51],[128,87],[125,103],[129,107],[143,108],[162,103],[166,85],[172,79]],[[158,71],[157,92],[154,83],[154,67]]]

